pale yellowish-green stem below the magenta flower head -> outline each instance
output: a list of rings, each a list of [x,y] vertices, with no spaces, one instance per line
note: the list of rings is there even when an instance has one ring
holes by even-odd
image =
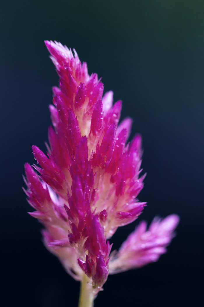
[[[83,274],[81,281],[79,307],[93,307],[94,306],[94,294],[92,292],[92,286],[89,283],[89,278],[86,274]]]

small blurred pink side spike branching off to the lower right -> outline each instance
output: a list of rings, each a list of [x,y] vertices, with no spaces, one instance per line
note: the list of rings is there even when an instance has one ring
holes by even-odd
[[[147,223],[141,222],[124,241],[119,251],[111,253],[109,274],[139,268],[157,261],[160,255],[165,254],[178,223],[177,215],[167,216],[164,220],[155,218],[147,231]]]

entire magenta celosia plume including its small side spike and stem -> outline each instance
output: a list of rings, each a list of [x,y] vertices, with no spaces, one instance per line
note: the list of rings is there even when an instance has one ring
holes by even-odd
[[[88,75],[75,50],[73,55],[60,43],[45,43],[60,87],[53,88],[50,105],[50,147],[46,156],[32,146],[40,176],[25,164],[25,192],[36,209],[30,215],[44,224],[46,247],[91,297],[87,302],[82,295],[80,306],[91,306],[109,266],[113,274],[156,261],[165,252],[178,217],[155,220],[147,232],[141,223],[109,261],[107,239],[136,220],[146,204],[135,199],[145,177],[139,177],[141,137],[127,143],[132,120],[126,118],[118,126],[121,101],[113,105],[111,91],[102,97],[102,82],[96,74]]]

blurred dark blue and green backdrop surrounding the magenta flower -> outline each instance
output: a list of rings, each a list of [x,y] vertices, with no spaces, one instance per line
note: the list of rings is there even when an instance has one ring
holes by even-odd
[[[2,306],[77,306],[79,283],[43,246],[21,190],[31,145],[46,150],[48,105],[58,77],[43,40],[75,48],[122,118],[143,136],[147,172],[138,221],[113,236],[118,248],[142,219],[177,213],[161,259],[109,276],[96,307],[202,306],[204,2],[200,0],[3,1],[0,7]]]

